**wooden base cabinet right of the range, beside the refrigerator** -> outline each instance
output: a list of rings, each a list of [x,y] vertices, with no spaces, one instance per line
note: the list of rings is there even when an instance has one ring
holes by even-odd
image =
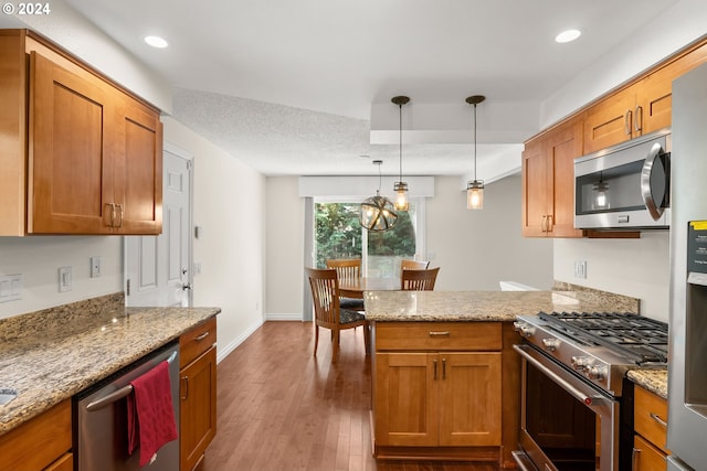
[[[633,409],[632,471],[667,470],[667,402],[636,386]]]

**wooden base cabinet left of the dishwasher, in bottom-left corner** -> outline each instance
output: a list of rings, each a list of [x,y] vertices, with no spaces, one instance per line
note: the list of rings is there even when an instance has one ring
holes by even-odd
[[[0,436],[0,471],[73,469],[71,399]]]

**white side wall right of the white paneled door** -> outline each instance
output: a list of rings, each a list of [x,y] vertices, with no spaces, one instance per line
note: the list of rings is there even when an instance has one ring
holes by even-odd
[[[172,118],[162,118],[165,141],[194,157],[194,306],[222,309],[222,358],[263,323],[265,179]]]

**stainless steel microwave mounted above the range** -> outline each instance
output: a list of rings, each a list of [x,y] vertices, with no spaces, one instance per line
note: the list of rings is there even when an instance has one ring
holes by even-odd
[[[574,159],[574,227],[669,228],[669,148],[663,129]]]

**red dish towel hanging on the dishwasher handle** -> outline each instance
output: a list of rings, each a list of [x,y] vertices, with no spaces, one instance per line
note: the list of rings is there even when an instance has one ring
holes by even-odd
[[[169,364],[161,362],[130,384],[133,394],[128,396],[128,454],[133,454],[139,446],[140,467],[144,467],[162,445],[178,437]]]

